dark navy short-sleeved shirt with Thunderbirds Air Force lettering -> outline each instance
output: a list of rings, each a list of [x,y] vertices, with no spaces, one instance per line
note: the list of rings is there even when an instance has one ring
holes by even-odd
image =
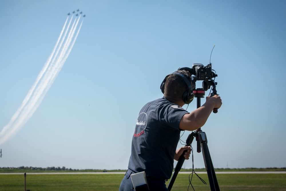
[[[137,119],[128,168],[145,171],[148,178],[170,179],[180,139],[179,123],[187,113],[164,97],[147,103]]]

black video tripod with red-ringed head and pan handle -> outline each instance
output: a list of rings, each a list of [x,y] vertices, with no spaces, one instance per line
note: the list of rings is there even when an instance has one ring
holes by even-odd
[[[211,83],[213,85],[213,89],[212,89],[213,92],[210,93],[210,97],[212,97],[214,95],[217,95],[216,84],[215,84],[215,82],[213,80],[211,81]],[[201,89],[201,88],[198,88],[198,89],[193,90],[193,93],[194,93],[194,97],[197,98],[197,108],[199,108],[201,106],[200,98],[204,98],[205,91],[203,89]],[[213,112],[217,113],[217,108],[215,108],[213,110]],[[213,167],[212,159],[210,157],[210,152],[208,150],[208,145],[207,145],[208,141],[207,141],[207,138],[206,138],[206,133],[202,132],[202,130],[200,128],[195,130],[194,132],[191,132],[188,135],[188,138],[186,139],[185,146],[191,146],[192,141],[194,140],[194,137],[196,138],[196,141],[197,141],[197,152],[200,153],[202,151],[202,155],[203,155],[203,158],[204,158],[204,165],[206,167],[206,172],[208,174],[208,181],[210,183],[210,190],[211,191],[220,191],[219,183],[217,182],[217,176],[215,174],[215,169]],[[172,186],[173,186],[173,184],[175,182],[175,179],[176,179],[179,171],[182,168],[182,165],[183,165],[184,160],[185,160],[184,153],[186,151],[187,150],[185,150],[183,152],[183,154],[180,156],[180,158],[178,160],[178,163],[177,163],[177,165],[175,167],[173,176],[171,177],[170,183],[168,185],[168,190],[169,191],[172,189]]]

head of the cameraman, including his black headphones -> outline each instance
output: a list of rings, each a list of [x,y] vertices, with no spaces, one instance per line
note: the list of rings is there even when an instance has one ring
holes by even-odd
[[[161,90],[167,99],[189,104],[194,98],[190,72],[178,70],[167,75],[161,84]]]

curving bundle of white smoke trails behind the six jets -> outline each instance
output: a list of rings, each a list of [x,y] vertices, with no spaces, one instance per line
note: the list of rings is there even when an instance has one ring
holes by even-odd
[[[45,94],[63,67],[63,64],[65,63],[70,51],[72,50],[72,47],[74,46],[83,23],[82,21],[76,35],[74,36],[78,22],[80,20],[80,16],[74,19],[72,27],[69,28],[70,24],[72,23],[73,16],[74,15],[72,15],[70,20],[69,16],[67,17],[51,55],[45,62],[42,70],[37,76],[34,84],[30,88],[20,107],[12,116],[9,123],[1,130],[0,145],[15,135],[33,116],[35,110],[41,104]]]

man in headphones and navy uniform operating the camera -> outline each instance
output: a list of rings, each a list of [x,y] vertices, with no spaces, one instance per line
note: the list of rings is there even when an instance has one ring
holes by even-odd
[[[168,190],[165,181],[172,176],[174,160],[178,160],[184,150],[187,150],[185,159],[189,159],[191,152],[190,147],[176,150],[180,131],[199,129],[212,110],[222,104],[218,95],[208,96],[200,108],[187,112],[182,106],[194,98],[192,87],[188,69],[175,71],[161,84],[164,97],[147,103],[141,109],[132,138],[128,170],[120,191],[134,190],[130,175],[142,171],[146,173],[151,191]]]

